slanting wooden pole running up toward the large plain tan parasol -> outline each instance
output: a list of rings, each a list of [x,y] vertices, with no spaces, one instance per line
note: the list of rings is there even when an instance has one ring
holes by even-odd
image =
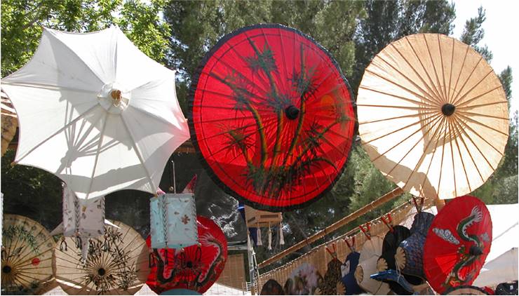
[[[299,250],[300,248],[303,248],[306,245],[310,245],[311,243],[314,243],[314,241],[317,241],[319,238],[322,238],[326,234],[332,233],[333,231],[339,229],[340,227],[343,227],[344,225],[348,224],[349,222],[356,220],[358,217],[361,217],[365,213],[370,212],[370,210],[375,210],[375,208],[382,206],[384,203],[387,203],[388,201],[395,199],[396,197],[400,196],[401,194],[403,194],[403,190],[400,187],[393,189],[393,191],[386,193],[383,196],[380,196],[375,201],[368,203],[366,206],[363,206],[362,208],[351,213],[350,215],[347,215],[346,217],[342,218],[341,220],[335,222],[334,224],[331,224],[329,227],[326,227],[325,229],[314,234],[313,236],[309,236],[304,241],[299,241],[299,243],[292,245],[290,248],[288,248],[286,250],[283,250],[283,252],[280,252],[280,253],[270,257],[269,259],[265,260],[264,262],[261,262],[260,264],[257,265],[257,267],[258,268],[266,267],[267,265],[269,265],[273,262],[276,262],[276,261],[280,260],[281,258],[283,258],[287,255],[290,255],[291,253],[294,253],[295,251]]]

